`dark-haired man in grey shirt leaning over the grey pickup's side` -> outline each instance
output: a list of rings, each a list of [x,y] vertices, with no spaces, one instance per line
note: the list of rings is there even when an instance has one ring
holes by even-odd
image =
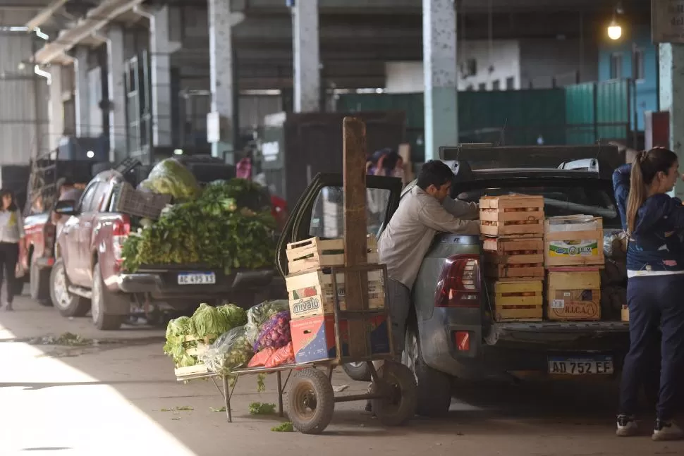
[[[438,232],[480,234],[476,203],[451,199],[453,172],[439,160],[427,161],[417,183],[405,195],[386,230],[380,236],[380,262],[387,265],[389,310],[397,353],[404,347],[404,332],[410,309],[411,288],[423,257]]]

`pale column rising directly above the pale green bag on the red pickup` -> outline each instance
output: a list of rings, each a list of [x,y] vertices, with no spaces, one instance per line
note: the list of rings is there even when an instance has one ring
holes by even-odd
[[[169,41],[169,6],[149,18],[149,66],[152,76],[152,144],[171,145],[171,54],[181,49]]]

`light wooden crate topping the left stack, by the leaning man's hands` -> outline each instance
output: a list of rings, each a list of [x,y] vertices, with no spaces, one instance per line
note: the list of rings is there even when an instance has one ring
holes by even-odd
[[[541,237],[544,234],[544,197],[504,195],[480,198],[480,232],[495,237]]]

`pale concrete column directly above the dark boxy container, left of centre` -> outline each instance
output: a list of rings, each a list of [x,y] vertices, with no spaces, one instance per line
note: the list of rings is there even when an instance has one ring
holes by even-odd
[[[318,0],[295,1],[292,7],[295,112],[321,109],[318,33]]]

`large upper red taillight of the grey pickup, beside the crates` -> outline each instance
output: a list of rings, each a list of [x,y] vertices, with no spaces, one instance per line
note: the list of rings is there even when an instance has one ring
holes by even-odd
[[[480,307],[480,257],[453,255],[439,277],[435,307]]]

